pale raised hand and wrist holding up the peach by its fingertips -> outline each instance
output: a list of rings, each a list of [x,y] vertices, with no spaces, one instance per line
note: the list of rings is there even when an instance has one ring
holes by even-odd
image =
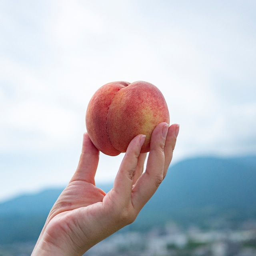
[[[134,222],[166,176],[178,132],[177,124],[156,126],[145,172],[146,153],[140,154],[145,136],[136,136],[107,194],[95,186],[99,151],[85,133],[78,168],[52,207],[32,256],[81,256]]]

